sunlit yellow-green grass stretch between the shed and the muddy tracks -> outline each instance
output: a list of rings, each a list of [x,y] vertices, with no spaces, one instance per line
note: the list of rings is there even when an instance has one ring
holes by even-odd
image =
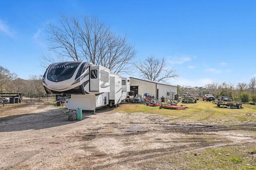
[[[144,104],[122,104],[116,111],[144,112],[159,114],[168,117],[174,122],[198,122],[198,123],[246,123],[256,121],[256,106],[243,104],[244,108],[217,107],[212,102],[198,101],[195,103],[179,103],[188,108],[183,110],[159,109],[159,106],[152,107]]]

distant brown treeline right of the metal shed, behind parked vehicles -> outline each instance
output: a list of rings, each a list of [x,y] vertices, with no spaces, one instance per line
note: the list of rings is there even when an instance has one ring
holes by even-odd
[[[204,96],[205,94],[213,94],[215,97],[228,96],[235,101],[248,102],[252,100],[256,102],[256,77],[250,79],[249,83],[212,83],[206,84],[204,87],[179,86],[178,94],[182,95],[186,92],[195,96]]]

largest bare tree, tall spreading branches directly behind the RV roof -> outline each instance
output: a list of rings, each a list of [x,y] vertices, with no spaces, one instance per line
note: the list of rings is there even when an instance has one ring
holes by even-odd
[[[46,40],[50,42],[48,50],[54,52],[56,58],[43,55],[43,67],[56,61],[87,61],[122,74],[129,70],[137,53],[126,35],[116,35],[96,16],[83,16],[79,20],[61,15],[60,26],[49,23],[46,33]]]

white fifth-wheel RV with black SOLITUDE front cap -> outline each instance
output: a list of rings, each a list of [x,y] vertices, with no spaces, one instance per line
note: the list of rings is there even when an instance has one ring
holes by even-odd
[[[67,61],[51,64],[44,73],[47,94],[68,95],[69,110],[93,110],[117,106],[130,92],[130,79],[88,62]]]

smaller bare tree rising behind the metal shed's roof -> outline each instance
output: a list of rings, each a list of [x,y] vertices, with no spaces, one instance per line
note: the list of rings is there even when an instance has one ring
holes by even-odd
[[[134,63],[134,66],[139,70],[142,79],[152,80],[154,82],[167,83],[169,78],[178,78],[175,74],[175,69],[166,68],[165,60],[154,59],[153,56],[148,57],[145,61]]]

